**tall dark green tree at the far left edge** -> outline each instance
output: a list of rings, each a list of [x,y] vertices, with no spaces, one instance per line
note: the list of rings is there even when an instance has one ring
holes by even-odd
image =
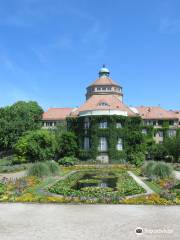
[[[12,149],[25,132],[40,129],[42,113],[42,108],[33,101],[0,108],[0,149]]]

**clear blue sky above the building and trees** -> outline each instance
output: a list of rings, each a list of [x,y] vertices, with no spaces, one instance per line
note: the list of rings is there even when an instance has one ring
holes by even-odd
[[[103,63],[127,104],[180,109],[180,1],[0,1],[0,106],[79,106]]]

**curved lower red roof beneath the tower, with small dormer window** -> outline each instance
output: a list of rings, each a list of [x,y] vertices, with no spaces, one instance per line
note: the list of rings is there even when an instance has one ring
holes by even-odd
[[[107,105],[104,106],[102,103]],[[81,107],[74,111],[72,115],[78,115],[79,112],[88,110],[120,110],[127,112],[129,116],[136,116],[116,95],[93,95]]]

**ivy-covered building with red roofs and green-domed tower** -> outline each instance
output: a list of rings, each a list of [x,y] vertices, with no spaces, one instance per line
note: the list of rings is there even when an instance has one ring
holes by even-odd
[[[131,133],[140,131],[142,137],[161,143],[180,129],[180,111],[168,111],[159,106],[127,106],[122,86],[110,78],[105,66],[87,87],[84,104],[79,108],[50,108],[43,114],[43,127],[54,128],[58,122],[66,120],[69,129],[78,135],[82,156],[103,162],[124,158],[127,150],[135,149]],[[136,141],[138,145],[139,140]]]

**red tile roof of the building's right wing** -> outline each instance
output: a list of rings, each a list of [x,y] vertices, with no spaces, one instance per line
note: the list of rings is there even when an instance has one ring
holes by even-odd
[[[159,106],[157,107],[136,107],[143,119],[178,119],[173,111],[167,111]]]

